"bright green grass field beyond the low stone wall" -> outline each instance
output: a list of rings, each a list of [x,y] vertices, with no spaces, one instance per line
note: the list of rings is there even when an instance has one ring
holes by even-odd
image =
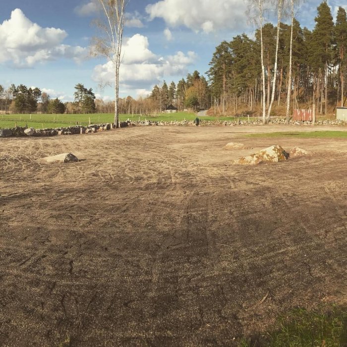
[[[120,120],[153,120],[153,121],[172,121],[172,120],[194,120],[196,114],[187,112],[178,112],[174,114],[160,114],[158,116],[140,116],[140,115],[120,115]],[[0,128],[13,128],[14,126],[25,126],[40,128],[58,128],[63,126],[88,125],[89,118],[91,124],[112,123],[114,115],[112,114],[92,114],[92,115],[0,115]],[[200,117],[203,120],[247,120],[247,117]],[[255,119],[251,118],[250,119]]]

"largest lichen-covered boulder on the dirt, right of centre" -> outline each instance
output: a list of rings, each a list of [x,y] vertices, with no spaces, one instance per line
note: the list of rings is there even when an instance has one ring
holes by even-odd
[[[271,146],[250,156],[239,158],[233,164],[257,165],[263,162],[278,163],[288,158],[289,154],[281,146]]]

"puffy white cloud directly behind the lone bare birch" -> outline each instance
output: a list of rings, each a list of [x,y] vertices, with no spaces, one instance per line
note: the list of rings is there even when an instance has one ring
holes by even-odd
[[[136,34],[127,39],[124,45],[124,59],[119,76],[121,88],[141,91],[149,85],[160,83],[165,77],[180,77],[196,59],[194,52],[177,52],[173,56],[159,58],[149,50],[147,37]],[[92,78],[100,84],[113,84],[114,76],[114,65],[108,61],[94,68]]]

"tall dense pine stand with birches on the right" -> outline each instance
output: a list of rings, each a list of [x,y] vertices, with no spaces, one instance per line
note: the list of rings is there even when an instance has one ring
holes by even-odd
[[[278,0],[278,25],[264,23],[266,1],[254,0],[260,24],[251,39],[245,34],[223,41],[207,72],[212,97],[221,113],[243,105],[269,117],[274,105],[313,108],[320,115],[346,103],[347,16],[340,6],[334,23],[326,1],[317,7],[312,31],[294,18],[295,1]],[[281,21],[289,4],[291,24]],[[259,106],[260,105],[260,106]]]

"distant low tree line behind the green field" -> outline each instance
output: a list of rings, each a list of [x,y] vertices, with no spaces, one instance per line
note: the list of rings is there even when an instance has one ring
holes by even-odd
[[[75,85],[74,101],[61,102],[58,98],[51,99],[50,95],[39,88],[28,88],[20,84],[12,84],[7,89],[0,85],[0,110],[2,113],[30,114],[93,114],[113,113],[115,101],[96,99],[93,89],[87,89],[83,84]],[[169,105],[178,110],[185,108],[197,110],[206,109],[211,105],[211,91],[205,77],[198,71],[188,73],[177,85],[171,82],[168,87],[163,81],[155,85],[148,97],[134,99],[131,96],[118,99],[120,114],[149,115],[164,111]]]

